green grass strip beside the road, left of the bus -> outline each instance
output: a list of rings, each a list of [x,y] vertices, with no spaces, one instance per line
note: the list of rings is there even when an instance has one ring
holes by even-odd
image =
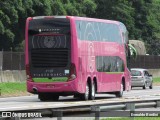
[[[7,82],[0,83],[0,97],[29,95],[26,90],[26,83]]]

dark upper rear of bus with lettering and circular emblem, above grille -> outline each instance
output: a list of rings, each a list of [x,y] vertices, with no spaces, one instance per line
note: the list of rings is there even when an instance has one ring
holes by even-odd
[[[67,48],[70,23],[67,19],[35,19],[28,33],[31,48]]]

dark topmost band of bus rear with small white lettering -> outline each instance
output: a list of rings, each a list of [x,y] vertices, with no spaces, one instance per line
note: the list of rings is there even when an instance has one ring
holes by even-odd
[[[35,19],[29,22],[29,34],[70,34],[68,19]]]

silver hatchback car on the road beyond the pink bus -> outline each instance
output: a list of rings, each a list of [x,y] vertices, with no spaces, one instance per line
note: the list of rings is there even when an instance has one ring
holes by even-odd
[[[147,69],[132,68],[131,69],[131,87],[149,87],[153,88],[152,75],[149,74]]]

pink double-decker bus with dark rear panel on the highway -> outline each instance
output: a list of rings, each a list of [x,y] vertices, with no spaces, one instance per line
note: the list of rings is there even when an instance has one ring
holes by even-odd
[[[27,90],[41,101],[96,93],[122,97],[130,90],[128,33],[123,23],[74,16],[29,17],[26,21]]]

